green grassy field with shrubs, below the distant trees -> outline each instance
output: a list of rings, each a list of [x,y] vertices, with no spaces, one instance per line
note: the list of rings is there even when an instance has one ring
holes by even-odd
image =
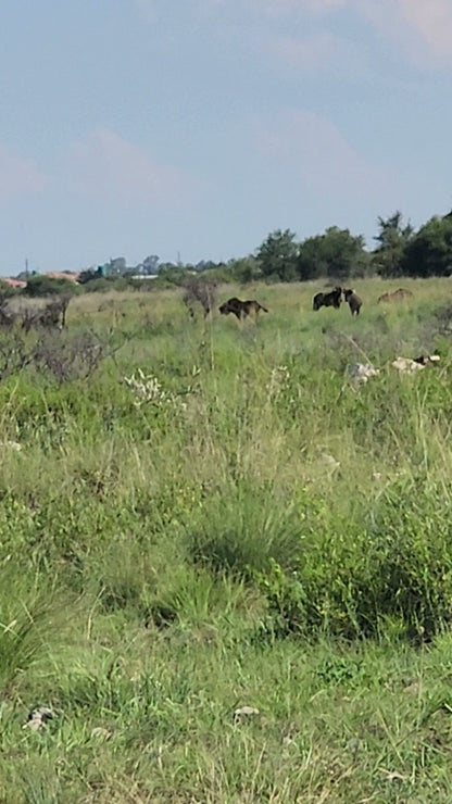
[[[452,801],[450,281],[0,336],[0,801]]]

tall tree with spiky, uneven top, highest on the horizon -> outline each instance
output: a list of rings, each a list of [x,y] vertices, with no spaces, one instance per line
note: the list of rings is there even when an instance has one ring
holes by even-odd
[[[413,227],[403,224],[398,210],[388,218],[378,217],[378,235],[374,238],[378,246],[373,252],[372,264],[380,276],[400,276],[405,249],[413,237]]]

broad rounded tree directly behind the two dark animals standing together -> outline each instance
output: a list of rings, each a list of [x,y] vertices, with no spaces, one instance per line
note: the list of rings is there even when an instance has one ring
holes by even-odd
[[[368,269],[368,253],[362,235],[330,226],[324,235],[309,237],[300,244],[298,275],[301,280],[363,276]]]

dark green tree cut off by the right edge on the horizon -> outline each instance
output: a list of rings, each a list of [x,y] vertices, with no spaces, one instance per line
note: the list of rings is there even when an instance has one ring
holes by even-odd
[[[406,276],[450,276],[452,274],[452,215],[430,218],[407,244],[402,273]]]

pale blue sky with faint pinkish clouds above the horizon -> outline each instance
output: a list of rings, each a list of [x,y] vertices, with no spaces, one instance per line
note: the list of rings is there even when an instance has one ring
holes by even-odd
[[[452,0],[2,0],[0,275],[452,209]]]

